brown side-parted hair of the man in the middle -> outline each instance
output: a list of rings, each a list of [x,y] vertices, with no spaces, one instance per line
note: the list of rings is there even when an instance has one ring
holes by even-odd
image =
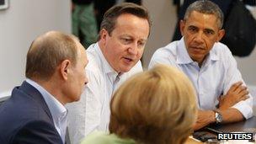
[[[120,3],[113,6],[112,8],[109,8],[109,10],[104,13],[104,18],[100,24],[100,29],[106,29],[109,35],[111,35],[111,32],[115,29],[116,19],[124,13],[130,13],[136,15],[139,18],[147,19],[149,27],[151,26],[147,8],[135,3]]]

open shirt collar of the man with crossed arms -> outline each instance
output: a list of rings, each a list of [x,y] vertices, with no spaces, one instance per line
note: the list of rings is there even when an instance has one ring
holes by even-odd
[[[216,47],[216,44],[213,45],[213,48],[210,51],[210,54],[206,57],[205,60],[209,59],[211,61],[218,61],[219,56],[216,55],[214,48]],[[194,62],[186,49],[186,45],[184,43],[184,37],[182,37],[181,40],[178,41],[177,45],[177,60],[176,62],[178,64],[188,64]]]

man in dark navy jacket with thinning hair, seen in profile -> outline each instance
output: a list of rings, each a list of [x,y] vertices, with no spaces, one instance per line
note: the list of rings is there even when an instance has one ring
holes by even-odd
[[[88,64],[76,37],[51,31],[30,45],[26,80],[0,107],[0,143],[64,143],[65,104],[80,99]]]

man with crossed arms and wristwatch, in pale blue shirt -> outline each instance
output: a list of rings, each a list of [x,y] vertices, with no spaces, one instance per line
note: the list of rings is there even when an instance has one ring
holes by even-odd
[[[183,38],[158,49],[149,67],[165,63],[179,67],[194,83],[199,105],[194,129],[211,123],[228,123],[253,115],[253,98],[226,45],[218,42],[223,14],[211,1],[197,1],[180,22]]]

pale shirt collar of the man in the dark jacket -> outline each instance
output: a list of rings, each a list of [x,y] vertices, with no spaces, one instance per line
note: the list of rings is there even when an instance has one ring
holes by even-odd
[[[67,117],[67,109],[53,95],[51,95],[51,93],[47,92],[45,88],[29,78],[26,79],[26,82],[35,87],[42,94],[45,103],[51,111],[51,116],[55,125],[57,125],[60,120]]]

